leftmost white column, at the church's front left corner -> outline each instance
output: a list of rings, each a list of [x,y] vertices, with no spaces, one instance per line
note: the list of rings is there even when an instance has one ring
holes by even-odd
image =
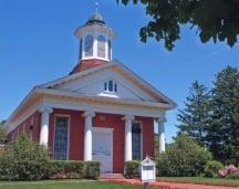
[[[41,130],[40,130],[40,145],[48,148],[49,145],[49,115],[53,112],[51,107],[41,107],[39,109],[41,115]]]

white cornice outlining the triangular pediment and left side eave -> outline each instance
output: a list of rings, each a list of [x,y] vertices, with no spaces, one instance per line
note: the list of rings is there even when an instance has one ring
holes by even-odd
[[[75,93],[67,93],[67,92],[60,92],[58,90],[54,90],[53,86],[58,86],[64,83],[67,83],[73,80],[77,80],[81,77],[85,77],[89,74],[94,74],[101,70],[106,70],[113,67],[124,74],[125,77],[129,77],[132,81],[134,81],[139,87],[142,87],[144,91],[153,95],[158,102],[134,102],[129,99],[115,99],[115,98],[108,98],[108,97],[102,97],[102,96],[89,96],[89,95],[82,95],[82,94],[75,94]],[[143,106],[150,106],[150,107],[162,107],[164,109],[173,109],[177,106],[175,102],[173,102],[170,98],[168,98],[166,95],[164,95],[162,92],[156,90],[154,86],[152,86],[148,82],[143,80],[141,76],[138,76],[136,73],[127,69],[124,64],[122,64],[119,61],[114,60],[112,62],[101,64],[97,66],[94,66],[92,69],[87,69],[81,72],[77,72],[72,75],[67,75],[62,78],[54,80],[52,82],[48,82],[41,85],[35,86],[27,96],[23,98],[23,101],[20,103],[20,105],[15,108],[15,111],[11,114],[11,116],[8,118],[7,123],[4,124],[4,127],[7,128],[8,124],[14,120],[17,117],[19,117],[22,114],[22,111],[25,107],[30,107],[33,105],[34,101],[39,99],[41,95],[58,95],[59,96],[69,96],[74,98],[82,98],[82,99],[89,99],[89,98],[95,98],[96,101],[101,102],[112,102],[116,104],[128,104],[128,105],[143,105]]]

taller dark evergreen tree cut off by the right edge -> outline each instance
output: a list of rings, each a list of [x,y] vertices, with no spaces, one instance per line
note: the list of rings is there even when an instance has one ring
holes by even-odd
[[[211,90],[211,120],[206,140],[214,157],[239,164],[239,71],[227,66],[216,75]]]

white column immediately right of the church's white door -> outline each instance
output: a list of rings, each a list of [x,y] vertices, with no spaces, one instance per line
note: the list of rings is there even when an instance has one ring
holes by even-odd
[[[133,115],[126,115],[125,119],[125,161],[132,160],[132,120]]]

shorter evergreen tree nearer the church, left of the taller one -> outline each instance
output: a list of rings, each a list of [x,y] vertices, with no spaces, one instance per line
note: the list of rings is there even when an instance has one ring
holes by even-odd
[[[185,108],[179,109],[177,119],[178,135],[187,135],[200,146],[205,146],[205,129],[208,126],[210,94],[204,85],[197,81],[189,88]]]

